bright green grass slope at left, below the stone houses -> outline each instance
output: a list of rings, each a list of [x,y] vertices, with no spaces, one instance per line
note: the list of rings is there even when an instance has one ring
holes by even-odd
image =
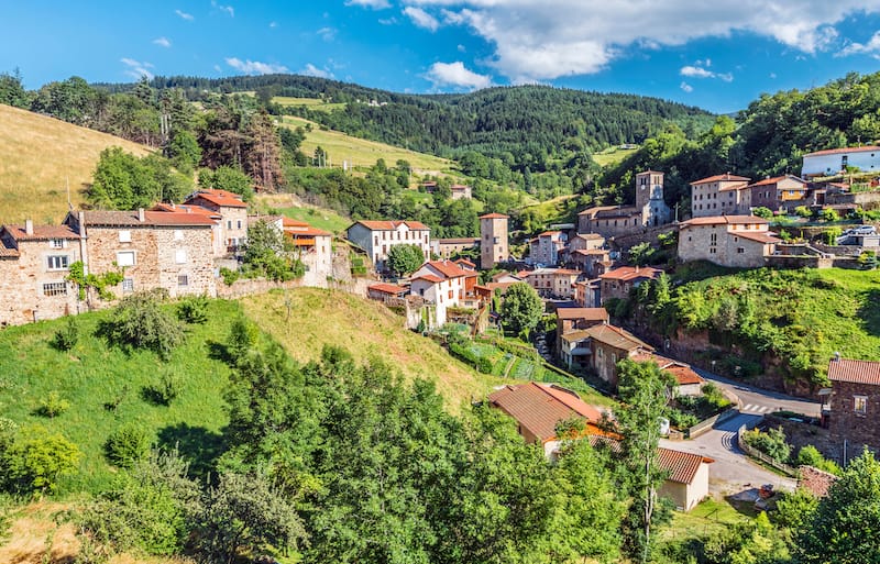
[[[217,360],[216,343],[229,333],[239,314],[237,302],[213,300],[205,325],[189,325],[186,343],[168,362],[155,354],[131,354],[109,347],[96,336],[108,311],[76,318],[79,341],[69,352],[50,345],[65,320],[43,321],[0,331],[0,413],[20,425],[36,423],[59,431],[82,452],[79,473],[62,483],[62,490],[97,491],[107,486],[114,468],[103,456],[107,438],[125,424],[150,431],[158,444],[178,444],[195,461],[194,469],[209,463],[227,423],[221,392],[229,367]],[[180,395],[170,406],[147,400],[144,388],[173,371],[183,377]],[[48,419],[36,408],[57,391],[70,402],[64,413]],[[117,403],[114,409],[109,405]]]

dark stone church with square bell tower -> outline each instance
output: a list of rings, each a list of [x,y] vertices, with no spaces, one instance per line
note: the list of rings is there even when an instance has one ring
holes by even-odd
[[[663,173],[646,170],[636,175],[632,206],[598,206],[578,214],[578,233],[598,233],[604,237],[641,233],[672,220],[663,200]]]

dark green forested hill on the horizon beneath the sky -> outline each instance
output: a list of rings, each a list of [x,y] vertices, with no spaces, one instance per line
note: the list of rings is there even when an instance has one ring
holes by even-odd
[[[97,86],[111,91],[132,87]],[[305,106],[276,107],[275,111],[298,114],[359,137],[452,158],[476,151],[520,170],[529,167],[532,173],[585,150],[641,143],[670,122],[694,134],[708,129],[713,120],[704,110],[658,98],[547,86],[417,96],[296,75],[156,77],[152,86],[182,88],[190,100],[209,92],[235,91],[256,92],[264,100],[275,96],[323,98],[345,106],[332,112]],[[377,104],[366,103],[371,101]]]

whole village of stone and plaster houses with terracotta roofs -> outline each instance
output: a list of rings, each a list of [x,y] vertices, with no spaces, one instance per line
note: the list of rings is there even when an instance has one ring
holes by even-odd
[[[701,397],[705,374],[689,363],[664,356],[631,332],[610,323],[605,306],[625,299],[641,284],[664,275],[661,268],[628,259],[639,244],[675,244],[681,263],[707,261],[719,266],[849,267],[859,256],[880,250],[880,235],[871,225],[843,232],[832,244],[785,242],[770,231],[770,221],[754,214],[766,208],[785,214],[798,207],[845,213],[861,206],[880,204],[877,191],[850,191],[845,185],[817,185],[809,178],[847,166],[880,168],[880,147],[833,150],[805,155],[802,177],[791,175],[751,181],[729,173],[691,183],[690,219],[678,220],[663,198],[663,173],[646,170],[635,177],[634,204],[592,207],[578,214],[576,224],[554,225],[528,240],[528,254],[515,258],[509,251],[509,218],[501,213],[480,217],[480,237],[431,239],[416,221],[360,220],[348,228],[344,241],[306,222],[282,215],[249,214],[240,196],[217,189],[198,190],[180,203],[160,203],[134,211],[70,210],[59,225],[3,225],[0,231],[0,324],[22,324],[106,307],[94,292],[82,292],[81,276],[119,273],[110,288],[116,296],[163,289],[172,298],[185,296],[233,297],[262,291],[268,281],[227,284],[221,269],[239,268],[249,229],[257,223],[283,234],[289,253],[300,261],[304,275],[290,284],[340,288],[378,300],[399,311],[408,329],[426,334],[441,332],[450,322],[465,323],[473,334],[498,325],[498,307],[514,285],[527,284],[543,300],[544,313],[556,324],[552,343],[539,347],[539,363],[572,377],[591,377],[615,394],[622,360],[650,361],[674,380],[678,398]],[[805,179],[806,178],[806,179]],[[430,183],[425,188],[431,189]],[[470,188],[453,186],[453,198],[470,198]],[[393,248],[415,246],[427,261],[400,276],[388,266]],[[366,259],[369,276],[353,276],[349,254]],[[463,256],[462,256],[463,255]],[[481,272],[492,270],[491,277]],[[79,272],[79,270],[78,270]],[[81,278],[85,279],[85,278]],[[509,367],[508,367],[509,371]],[[880,408],[880,363],[833,358],[828,377],[833,387],[823,396],[824,427],[849,443],[877,447],[876,410]],[[738,398],[729,389],[718,401],[710,424],[669,428],[663,434],[695,439],[736,416]],[[833,402],[831,398],[836,398]],[[607,417],[580,396],[553,383],[506,385],[488,396],[490,403],[517,420],[520,434],[543,445],[548,458],[557,456],[557,429],[571,418],[585,423],[595,441],[614,441],[602,428]],[[817,405],[816,405],[817,406]],[[741,407],[741,406],[739,406]],[[723,409],[724,408],[724,409]],[[811,408],[812,409],[812,408]],[[818,414],[818,413],[816,413]],[[675,425],[673,425],[675,427]],[[744,428],[745,429],[745,428]],[[737,430],[737,438],[743,429]],[[678,450],[667,441],[659,453],[668,471],[663,494],[689,510],[710,493],[712,457]],[[682,443],[684,444],[684,443]],[[741,463],[741,461],[739,462]],[[816,471],[820,472],[820,471]],[[811,476],[815,473],[811,474]],[[822,479],[828,479],[822,476]]]

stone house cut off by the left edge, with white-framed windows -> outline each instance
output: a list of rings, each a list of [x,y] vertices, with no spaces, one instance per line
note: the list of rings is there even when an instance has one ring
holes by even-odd
[[[79,233],[67,225],[0,228],[0,327],[78,313],[67,276],[81,259]]]

